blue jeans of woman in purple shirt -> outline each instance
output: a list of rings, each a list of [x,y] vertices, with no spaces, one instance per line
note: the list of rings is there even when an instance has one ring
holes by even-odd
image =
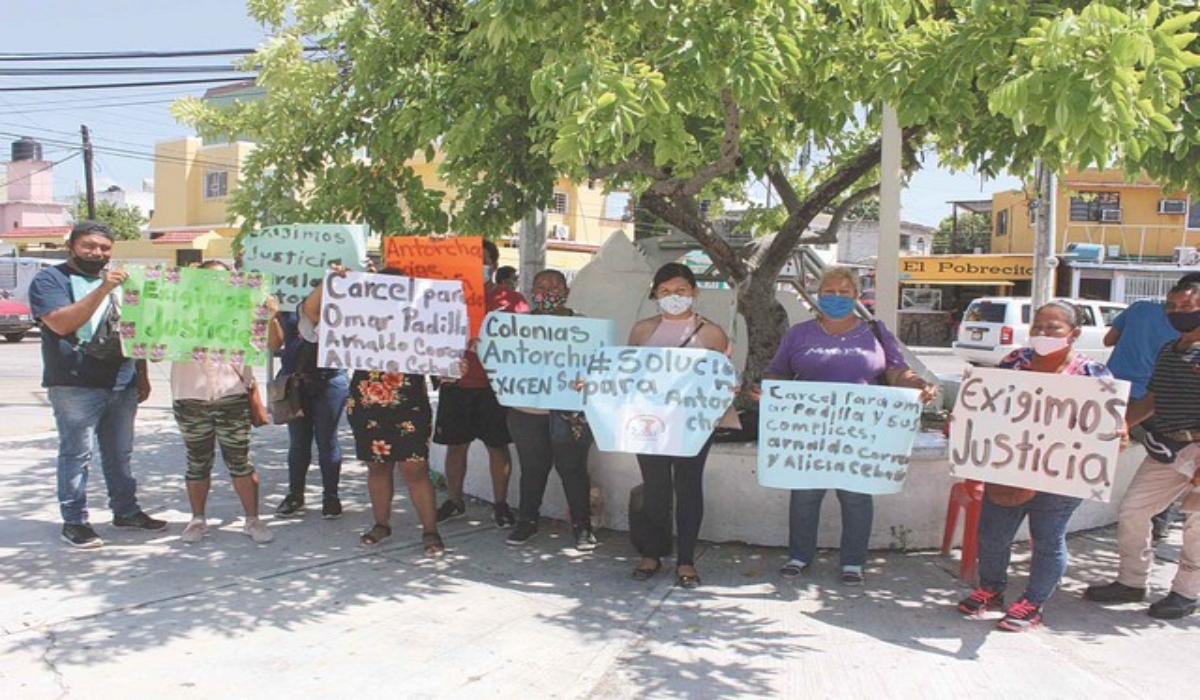
[[[787,556],[811,564],[817,556],[817,528],[821,526],[821,501],[828,489],[794,489],[788,505]],[[841,503],[841,548],[844,567],[866,563],[866,545],[875,521],[875,502],[869,493],[838,489]]]

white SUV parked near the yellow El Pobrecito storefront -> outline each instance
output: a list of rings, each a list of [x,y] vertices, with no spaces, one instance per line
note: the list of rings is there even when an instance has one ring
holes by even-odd
[[[1104,334],[1126,305],[1116,301],[1063,299],[1084,310],[1086,323],[1075,349],[1097,360],[1108,361],[1112,348],[1104,347]],[[1028,297],[983,297],[967,306],[959,324],[954,354],[972,365],[995,366],[1004,355],[1025,347],[1030,340],[1033,316]]]

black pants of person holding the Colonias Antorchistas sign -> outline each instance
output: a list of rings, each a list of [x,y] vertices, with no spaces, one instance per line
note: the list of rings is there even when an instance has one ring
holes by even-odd
[[[523,522],[536,521],[541,501],[546,495],[550,469],[558,472],[566,495],[566,507],[571,513],[571,525],[590,525],[589,497],[592,481],[588,478],[588,449],[590,439],[553,442],[550,439],[550,421],[562,420],[550,414],[509,411],[509,435],[521,460],[521,508]],[[589,436],[590,437],[590,436]]]

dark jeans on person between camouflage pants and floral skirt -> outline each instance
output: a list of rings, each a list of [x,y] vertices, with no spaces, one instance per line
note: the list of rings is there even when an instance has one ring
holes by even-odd
[[[337,430],[350,395],[350,379],[340,372],[329,379],[305,377],[300,390],[304,418],[288,423],[288,492],[304,497],[312,463],[312,443],[317,441],[323,496],[337,496],[342,480],[342,445]]]

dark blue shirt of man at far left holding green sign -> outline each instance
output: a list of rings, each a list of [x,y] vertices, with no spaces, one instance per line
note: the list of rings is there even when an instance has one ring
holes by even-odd
[[[42,317],[78,301],[71,279],[86,277],[66,263],[46,268],[29,283],[29,307],[34,318]],[[62,336],[42,327],[42,385],[125,389],[137,377],[133,360],[101,360],[84,354],[76,334]]]

